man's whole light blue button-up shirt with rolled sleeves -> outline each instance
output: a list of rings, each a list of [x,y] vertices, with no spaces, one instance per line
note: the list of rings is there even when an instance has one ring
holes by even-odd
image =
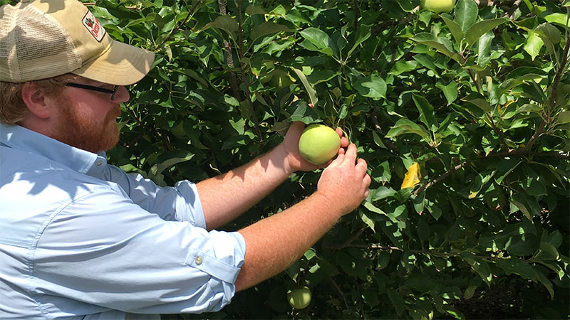
[[[244,254],[239,233],[206,230],[194,183],[0,124],[0,319],[217,311]]]

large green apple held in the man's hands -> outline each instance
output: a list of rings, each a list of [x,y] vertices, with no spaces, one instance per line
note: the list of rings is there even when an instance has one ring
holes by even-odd
[[[341,137],[331,127],[323,124],[309,125],[299,139],[301,156],[316,166],[333,159],[340,147]]]

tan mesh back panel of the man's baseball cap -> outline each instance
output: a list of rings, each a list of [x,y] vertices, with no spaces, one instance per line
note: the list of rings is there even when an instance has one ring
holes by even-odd
[[[51,78],[81,67],[81,57],[71,39],[51,16],[28,5],[17,11],[15,18],[15,25],[8,31],[11,34],[0,30],[0,57],[5,55],[8,59],[11,80]],[[9,38],[14,43],[5,43]],[[15,54],[10,53],[14,45]]]

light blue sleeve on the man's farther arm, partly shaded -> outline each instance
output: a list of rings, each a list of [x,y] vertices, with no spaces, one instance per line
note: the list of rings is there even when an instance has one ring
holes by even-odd
[[[184,180],[173,187],[161,187],[140,174],[127,174],[116,166],[107,167],[104,178],[118,183],[141,208],[156,213],[164,220],[189,221],[197,227],[206,228],[195,183]]]

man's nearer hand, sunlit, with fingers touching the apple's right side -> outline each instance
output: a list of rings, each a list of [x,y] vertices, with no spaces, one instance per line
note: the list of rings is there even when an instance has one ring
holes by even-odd
[[[342,214],[349,213],[368,197],[371,177],[366,173],[367,169],[364,159],[357,160],[356,145],[351,144],[346,153],[339,154],[323,171],[317,194],[336,203]]]

